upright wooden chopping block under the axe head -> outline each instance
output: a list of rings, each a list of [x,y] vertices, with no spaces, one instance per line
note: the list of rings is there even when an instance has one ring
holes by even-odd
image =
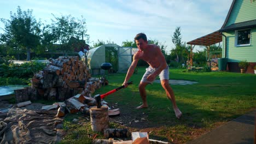
[[[94,131],[102,131],[109,127],[108,107],[102,106],[100,109],[92,107],[90,109],[91,129]]]

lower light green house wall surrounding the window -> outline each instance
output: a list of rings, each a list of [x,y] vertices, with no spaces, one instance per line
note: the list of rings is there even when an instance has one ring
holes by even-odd
[[[256,62],[256,28],[251,29],[251,45],[250,46],[235,46],[235,31],[223,33],[226,35],[226,58],[228,62],[240,62],[247,60],[248,62]],[[225,46],[225,37],[223,37],[223,47]],[[225,55],[225,50],[222,51],[222,56]]]

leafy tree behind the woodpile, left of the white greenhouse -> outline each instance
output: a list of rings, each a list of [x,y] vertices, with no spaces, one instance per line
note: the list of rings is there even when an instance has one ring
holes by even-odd
[[[76,39],[82,39],[85,42],[89,43],[89,35],[86,34],[86,22],[85,19],[75,19],[71,15],[61,16],[52,19],[51,33],[53,34],[54,42],[60,44],[60,50],[64,55],[67,55],[68,52],[73,52],[74,47],[71,45],[72,43],[68,43],[69,40],[74,37]]]

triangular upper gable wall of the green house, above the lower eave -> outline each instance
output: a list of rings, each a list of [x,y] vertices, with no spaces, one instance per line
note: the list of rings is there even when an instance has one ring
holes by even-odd
[[[225,26],[250,20],[256,20],[256,1],[236,0]]]

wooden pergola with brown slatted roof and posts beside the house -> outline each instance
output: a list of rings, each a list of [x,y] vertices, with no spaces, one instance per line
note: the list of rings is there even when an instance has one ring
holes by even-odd
[[[222,33],[218,32],[218,31],[207,34],[203,37],[194,39],[192,41],[189,41],[187,44],[191,45],[191,47],[190,47],[190,65],[191,66],[193,65],[193,49],[194,49],[195,45],[207,46],[208,55],[210,55],[210,45],[220,43],[221,41],[222,41]]]

